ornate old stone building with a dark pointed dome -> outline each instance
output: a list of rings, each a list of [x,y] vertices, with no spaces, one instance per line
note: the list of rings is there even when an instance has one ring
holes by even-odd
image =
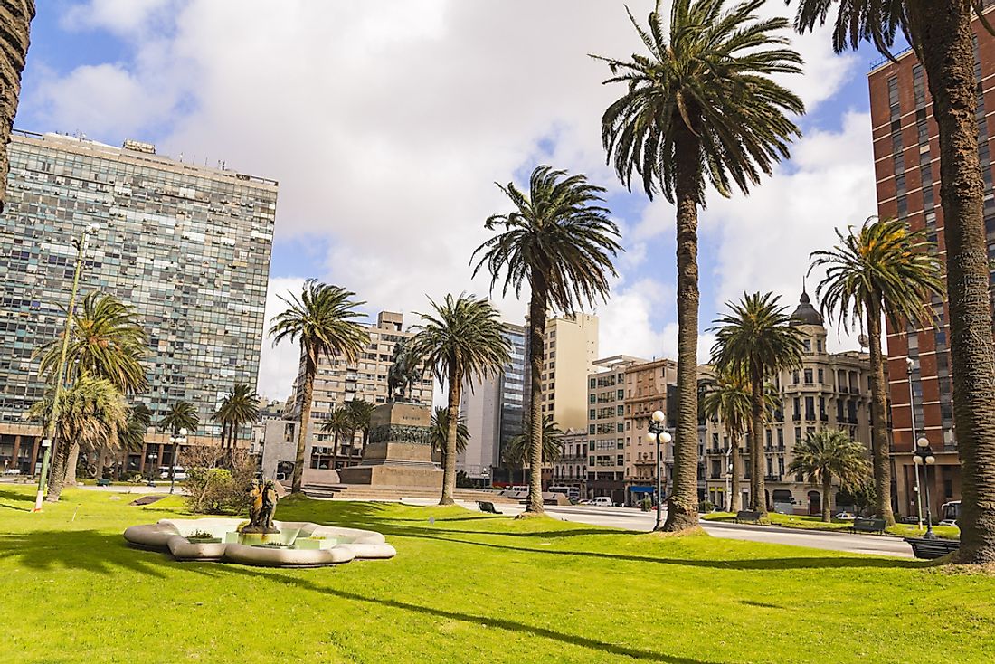
[[[851,438],[871,448],[870,375],[868,353],[850,350],[831,353],[826,344],[826,326],[808,293],[802,290],[790,325],[802,333],[803,355],[800,368],[784,371],[773,381],[781,408],[774,413],[761,441],[764,451],[764,480],[767,506],[785,514],[822,513],[822,488],[788,475],[794,446],[809,433],[821,428],[839,428]],[[745,440],[739,444],[745,475],[741,482],[741,505],[748,505],[749,464]],[[707,422],[705,431],[705,484],[707,499],[722,508],[725,497],[728,440],[721,422]],[[841,508],[837,496],[829,497],[834,513]]]

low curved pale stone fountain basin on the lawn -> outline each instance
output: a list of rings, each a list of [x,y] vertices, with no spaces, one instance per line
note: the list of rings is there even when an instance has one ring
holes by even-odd
[[[124,531],[124,539],[135,547],[169,552],[177,560],[225,560],[275,567],[338,564],[353,558],[389,558],[397,554],[374,531],[309,522],[273,522],[280,531],[273,541],[295,544],[294,549],[251,547],[233,542],[239,526],[245,523],[242,519],[163,519],[157,524],[132,526]],[[194,533],[209,533],[221,542],[190,542],[187,538]]]

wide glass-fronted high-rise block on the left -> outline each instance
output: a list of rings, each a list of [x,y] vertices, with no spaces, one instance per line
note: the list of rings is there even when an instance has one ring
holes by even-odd
[[[201,427],[189,441],[216,436],[221,396],[256,385],[276,204],[274,180],[176,161],[148,143],[16,132],[0,215],[0,463],[33,470],[37,426],[23,416],[45,391],[36,351],[63,330],[72,240],[95,222],[80,297],[113,295],[141,318],[150,389],[136,400],[153,422],[191,401]],[[146,437],[160,463],[163,442]]]

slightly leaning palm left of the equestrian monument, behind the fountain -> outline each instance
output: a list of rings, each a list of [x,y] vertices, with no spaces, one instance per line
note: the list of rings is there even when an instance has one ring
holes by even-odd
[[[354,308],[366,303],[353,301],[355,295],[338,286],[308,279],[299,296],[280,298],[289,309],[279,314],[270,327],[274,345],[285,338],[300,340],[300,356],[304,365],[293,493],[300,492],[303,477],[304,449],[318,360],[323,355],[328,359],[341,356],[346,361],[355,361],[362,348],[369,343],[369,332],[354,321],[361,316]]]

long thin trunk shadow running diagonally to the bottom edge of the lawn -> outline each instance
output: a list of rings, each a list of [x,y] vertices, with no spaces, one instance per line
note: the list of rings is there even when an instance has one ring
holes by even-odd
[[[275,569],[264,571],[261,569],[256,569],[251,567],[242,567],[238,565],[228,565],[228,564],[221,565],[213,569],[208,569],[206,567],[196,567],[194,569],[196,569],[196,571],[198,572],[207,573],[208,575],[211,576],[232,573],[243,576],[249,576],[254,579],[265,578],[268,580],[276,581],[278,583],[283,583],[285,585],[295,587],[300,590],[305,590],[308,592],[331,595],[334,597],[338,597],[340,599],[363,602],[368,604],[376,604],[378,606],[385,606],[387,608],[394,608],[403,611],[412,611],[415,613],[434,616],[436,618],[459,620],[461,622],[476,624],[482,627],[497,627],[499,629],[504,629],[507,631],[529,634],[531,636],[538,638],[551,639],[553,641],[558,641],[560,643],[567,645],[575,645],[582,648],[589,648],[599,653],[609,653],[619,657],[631,657],[632,659],[664,662],[665,664],[718,664],[717,662],[708,662],[705,660],[691,659],[688,657],[668,655],[661,652],[641,650],[639,648],[629,647],[618,643],[601,641],[595,638],[582,636],[580,634],[570,634],[567,632],[556,631],[548,627],[529,625],[527,623],[518,622],[517,620],[511,620],[506,617],[466,613],[452,609],[437,608],[433,606],[415,604],[412,602],[401,601],[398,599],[389,599],[385,597],[374,597],[370,595],[359,594],[356,592],[343,590],[341,588],[319,585],[308,578],[304,578],[301,576],[291,576]]]

